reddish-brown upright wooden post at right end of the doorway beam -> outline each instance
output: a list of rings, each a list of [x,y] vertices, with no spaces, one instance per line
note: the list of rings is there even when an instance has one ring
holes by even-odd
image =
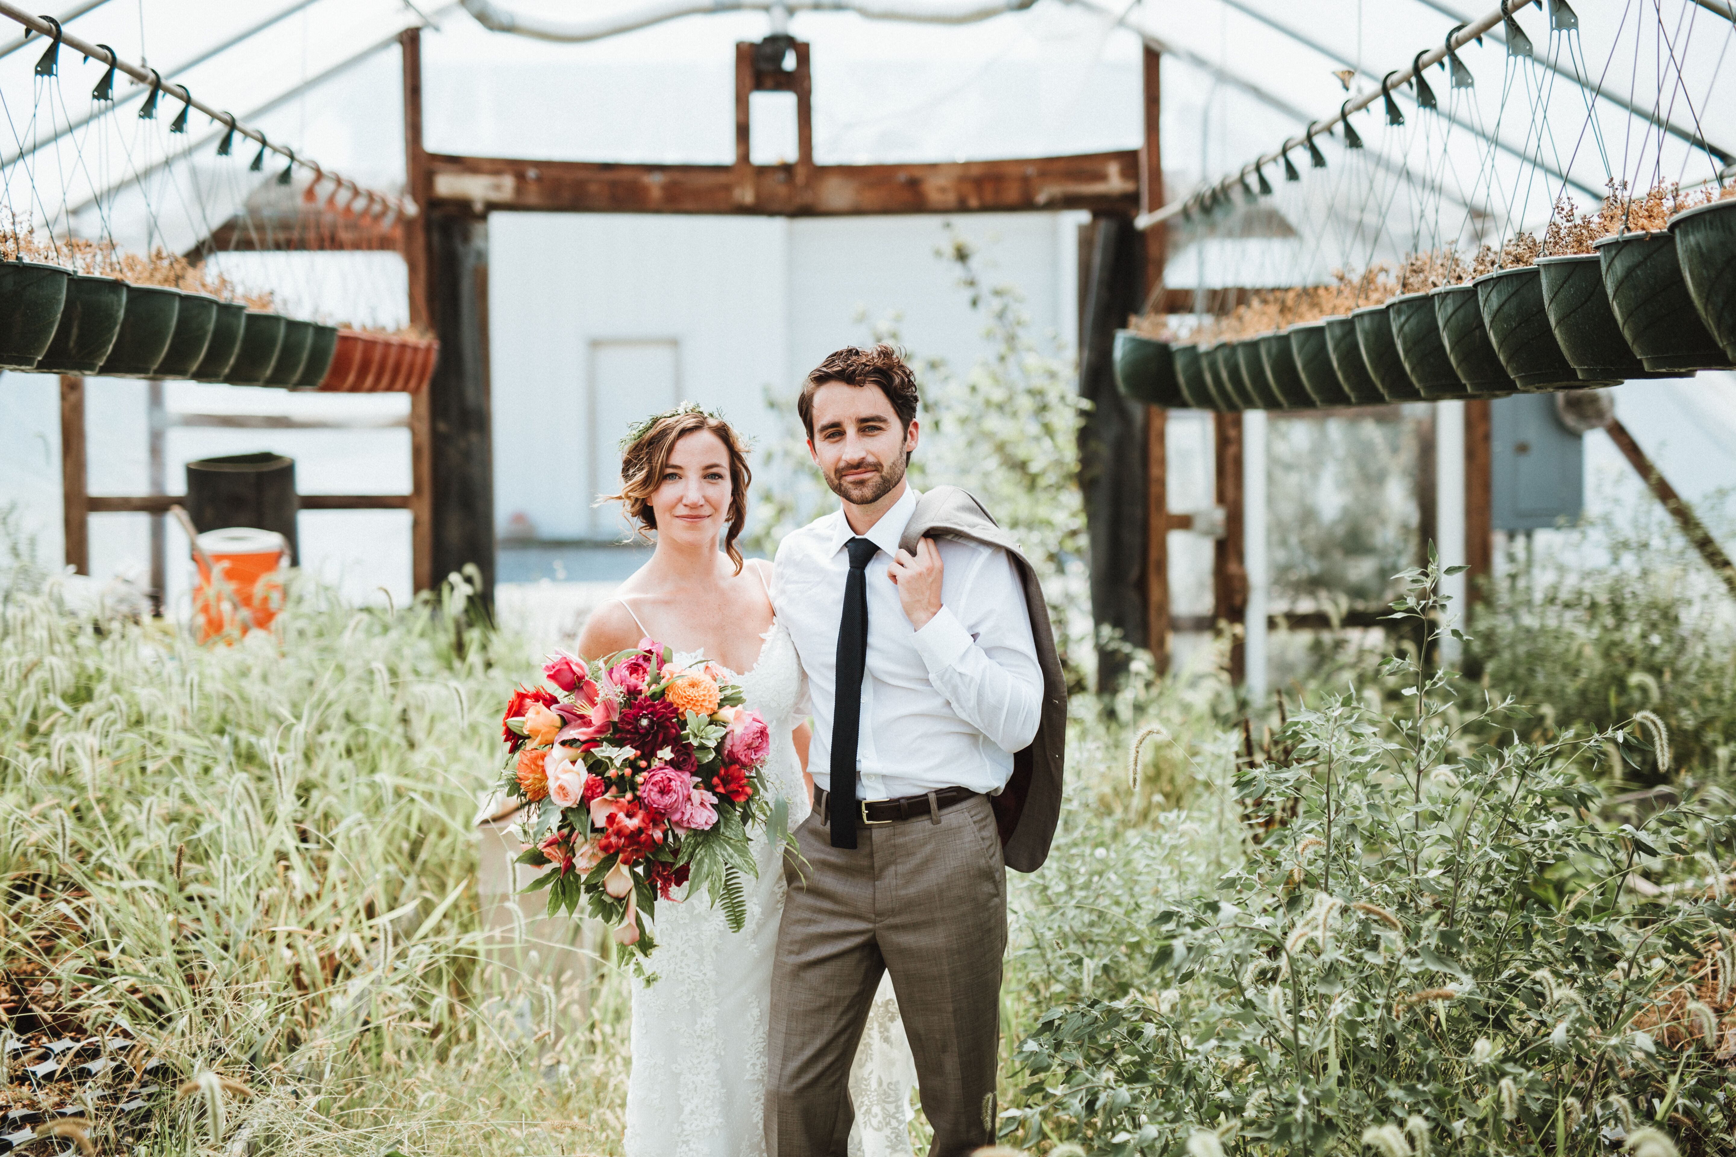
[[[1161,68],[1163,57],[1146,45],[1144,123],[1146,139],[1139,146],[1139,212],[1146,213],[1163,205],[1163,139],[1158,118],[1163,109]],[[1165,226],[1144,232],[1144,288],[1142,300],[1161,297],[1165,260]],[[1146,411],[1146,645],[1158,675],[1170,670],[1170,480],[1168,480],[1168,411],[1151,406]]]

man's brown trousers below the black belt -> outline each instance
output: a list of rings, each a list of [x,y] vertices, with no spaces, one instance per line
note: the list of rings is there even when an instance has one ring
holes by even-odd
[[[880,973],[892,973],[917,1060],[929,1157],[995,1131],[1007,871],[986,796],[930,817],[858,826],[833,848],[819,814],[797,829],[771,985],[769,1157],[845,1157],[851,1062]]]

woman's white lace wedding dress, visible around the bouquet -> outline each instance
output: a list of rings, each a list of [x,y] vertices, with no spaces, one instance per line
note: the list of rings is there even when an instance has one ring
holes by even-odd
[[[790,739],[802,701],[802,666],[779,623],[766,633],[759,663],[740,678],[746,706],[771,727],[766,779],[790,801],[793,829],[809,812]],[[766,1155],[766,1046],[783,866],[764,836],[755,840],[755,860],[759,878],[748,883],[741,931],[729,931],[724,912],[703,893],[656,905],[656,951],[649,961],[656,984],[634,984],[627,1157]],[[892,985],[882,978],[851,1067],[851,1157],[910,1157],[915,1081]]]

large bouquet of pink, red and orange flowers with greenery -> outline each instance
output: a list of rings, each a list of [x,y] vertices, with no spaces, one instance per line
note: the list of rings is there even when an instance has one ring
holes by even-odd
[[[502,718],[502,786],[531,808],[519,864],[552,867],[529,890],[549,890],[550,916],[583,900],[639,956],[656,947],[646,916],[682,885],[740,931],[748,833],[786,824],[762,775],[771,734],[741,687],[649,638],[594,663],[550,656],[543,677],[556,690],[517,687]]]

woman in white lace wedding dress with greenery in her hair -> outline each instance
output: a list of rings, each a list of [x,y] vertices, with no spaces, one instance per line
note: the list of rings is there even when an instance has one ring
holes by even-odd
[[[773,611],[771,564],[745,562],[736,548],[752,477],[741,441],[717,415],[687,404],[641,423],[621,444],[615,500],[656,550],[618,598],[592,612],[578,649],[597,657],[654,638],[736,675],[746,706],[771,727],[766,781],[790,801],[793,831],[812,793],[807,687]],[[785,883],[779,848],[764,834],[755,862],[741,931],[731,933],[703,895],[656,907],[656,978],[634,982],[627,1157],[766,1154],[771,966]],[[898,1004],[882,982],[851,1069],[852,1157],[908,1157],[913,1084]]]

